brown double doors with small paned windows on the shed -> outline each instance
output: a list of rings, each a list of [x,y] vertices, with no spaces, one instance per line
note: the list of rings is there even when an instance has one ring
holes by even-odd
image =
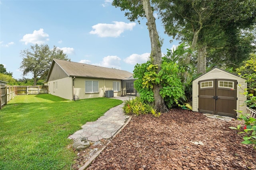
[[[236,80],[209,79],[198,82],[198,111],[236,117]]]

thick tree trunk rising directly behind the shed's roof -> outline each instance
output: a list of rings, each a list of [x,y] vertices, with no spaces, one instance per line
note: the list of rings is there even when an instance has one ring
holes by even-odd
[[[206,47],[207,45],[200,45],[198,48],[197,59],[197,73],[206,73]]]

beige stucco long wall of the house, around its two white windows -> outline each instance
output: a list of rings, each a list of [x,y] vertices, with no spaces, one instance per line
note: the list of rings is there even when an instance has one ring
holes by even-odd
[[[99,82],[99,92],[97,93],[85,93],[85,81],[98,81]],[[79,78],[74,79],[74,94],[77,95],[80,99],[88,98],[99,98],[105,96],[106,90],[113,90],[113,82],[120,82],[120,80],[107,80],[107,79],[97,79],[97,78]],[[120,87],[121,89],[121,87]],[[121,96],[121,92],[114,92],[114,97]]]

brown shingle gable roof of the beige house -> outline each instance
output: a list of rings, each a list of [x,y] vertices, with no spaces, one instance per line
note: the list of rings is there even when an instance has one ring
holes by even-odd
[[[118,70],[115,68],[106,68],[102,66],[53,59],[46,81],[48,81],[50,72],[52,71],[52,67],[54,64],[58,64],[60,68],[62,68],[62,70],[64,70],[64,72],[68,74],[68,76],[117,80],[126,80],[127,78],[132,76],[131,72]]]

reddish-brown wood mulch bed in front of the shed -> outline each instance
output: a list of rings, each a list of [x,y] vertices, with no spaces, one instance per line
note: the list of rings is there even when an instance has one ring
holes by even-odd
[[[256,170],[256,150],[228,128],[238,124],[184,109],[132,117],[87,169]]]

